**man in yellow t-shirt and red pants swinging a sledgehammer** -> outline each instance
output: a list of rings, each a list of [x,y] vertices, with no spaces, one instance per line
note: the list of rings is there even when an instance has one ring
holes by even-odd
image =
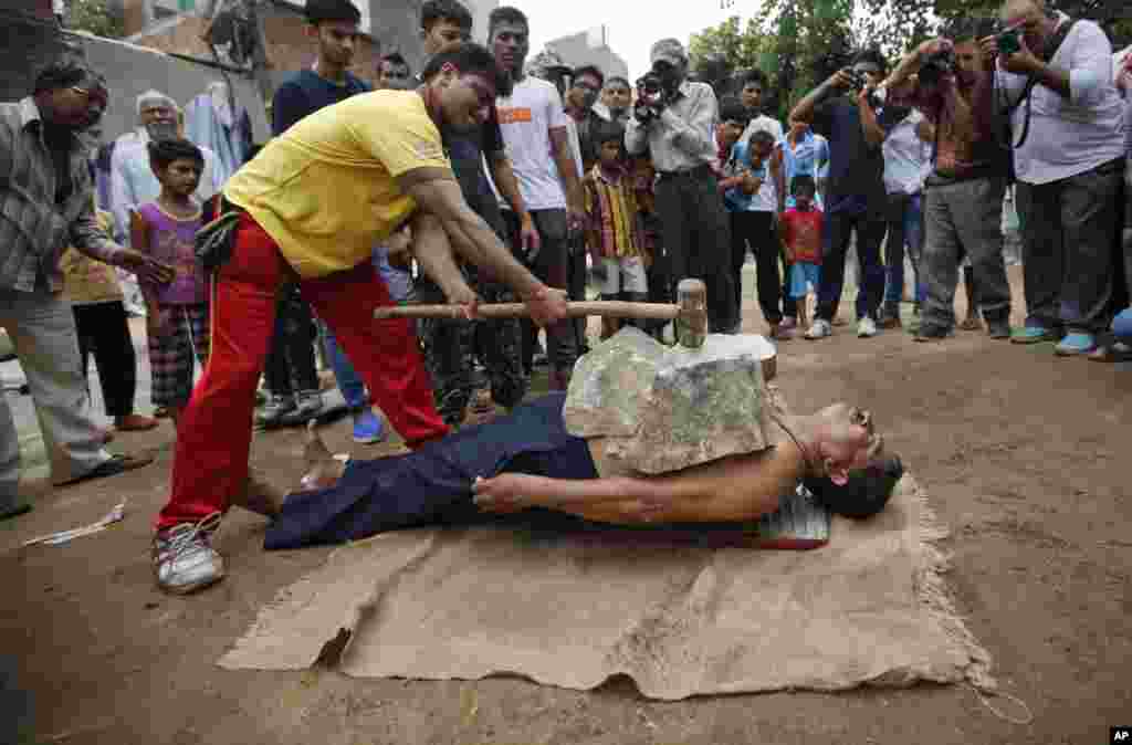
[[[225,187],[225,208],[242,214],[216,274],[212,357],[179,422],[171,495],[157,519],[153,562],[163,590],[191,592],[224,576],[209,536],[247,481],[255,391],[284,281],[298,280],[410,447],[447,427],[409,322],[374,320],[375,308],[391,305],[370,263],[375,243],[411,225],[421,268],[470,316],[477,298],[453,248],[513,288],[539,324],[566,316],[564,297],[466,205],[440,144],[441,125],[481,127],[509,79],[475,44],[437,54],[422,77],[414,92],[360,94],[306,117]]]

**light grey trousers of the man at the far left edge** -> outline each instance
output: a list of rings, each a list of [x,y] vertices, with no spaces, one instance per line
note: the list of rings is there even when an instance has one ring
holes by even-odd
[[[27,376],[52,481],[83,476],[109,460],[91,418],[70,303],[48,292],[0,290],[0,327]],[[0,507],[15,502],[18,481],[19,437],[0,395]]]

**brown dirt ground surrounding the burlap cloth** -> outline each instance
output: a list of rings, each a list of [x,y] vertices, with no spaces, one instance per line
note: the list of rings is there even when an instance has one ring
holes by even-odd
[[[1012,267],[1015,306],[1021,292]],[[962,305],[962,301],[960,301]],[[842,306],[851,314],[851,303]],[[761,332],[755,307],[747,329]],[[1018,319],[1020,320],[1020,318]],[[266,554],[264,522],[233,511],[218,537],[230,575],[189,598],[153,585],[148,541],[165,497],[168,425],[123,435],[157,462],[50,493],[0,523],[0,731],[25,743],[539,744],[1108,742],[1132,723],[1132,500],[1120,443],[1132,375],[1052,346],[960,333],[907,333],[780,348],[780,383],[799,411],[832,400],[875,412],[890,447],[953,532],[950,583],[1002,688],[1032,710],[995,717],[959,686],[644,700],[626,680],[593,692],[518,678],[360,680],[332,670],[225,671],[215,661],[257,610],[327,550]],[[350,449],[349,425],[329,436]],[[293,483],[297,431],[257,436],[254,461]],[[360,453],[372,449],[355,448]],[[84,524],[129,499],[126,521],[66,546],[20,541]],[[1009,701],[996,700],[1013,717]]]

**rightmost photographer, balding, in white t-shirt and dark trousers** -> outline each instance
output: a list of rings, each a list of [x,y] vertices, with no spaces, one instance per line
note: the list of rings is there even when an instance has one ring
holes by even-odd
[[[998,55],[996,85],[1013,108],[1026,327],[1011,341],[1061,339],[1058,354],[1086,354],[1110,310],[1124,172],[1112,44],[1045,0],[1007,0],[1001,16],[1010,32],[983,48]]]

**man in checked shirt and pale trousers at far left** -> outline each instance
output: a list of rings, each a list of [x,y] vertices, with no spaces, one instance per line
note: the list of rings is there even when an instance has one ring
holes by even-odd
[[[33,94],[0,104],[0,326],[12,340],[35,402],[57,485],[113,476],[152,457],[111,455],[91,419],[70,303],[60,298],[68,246],[164,283],[172,267],[114,243],[97,225],[85,130],[102,117],[102,76],[78,61],[48,65]],[[0,396],[0,516],[19,500],[19,437]]]

